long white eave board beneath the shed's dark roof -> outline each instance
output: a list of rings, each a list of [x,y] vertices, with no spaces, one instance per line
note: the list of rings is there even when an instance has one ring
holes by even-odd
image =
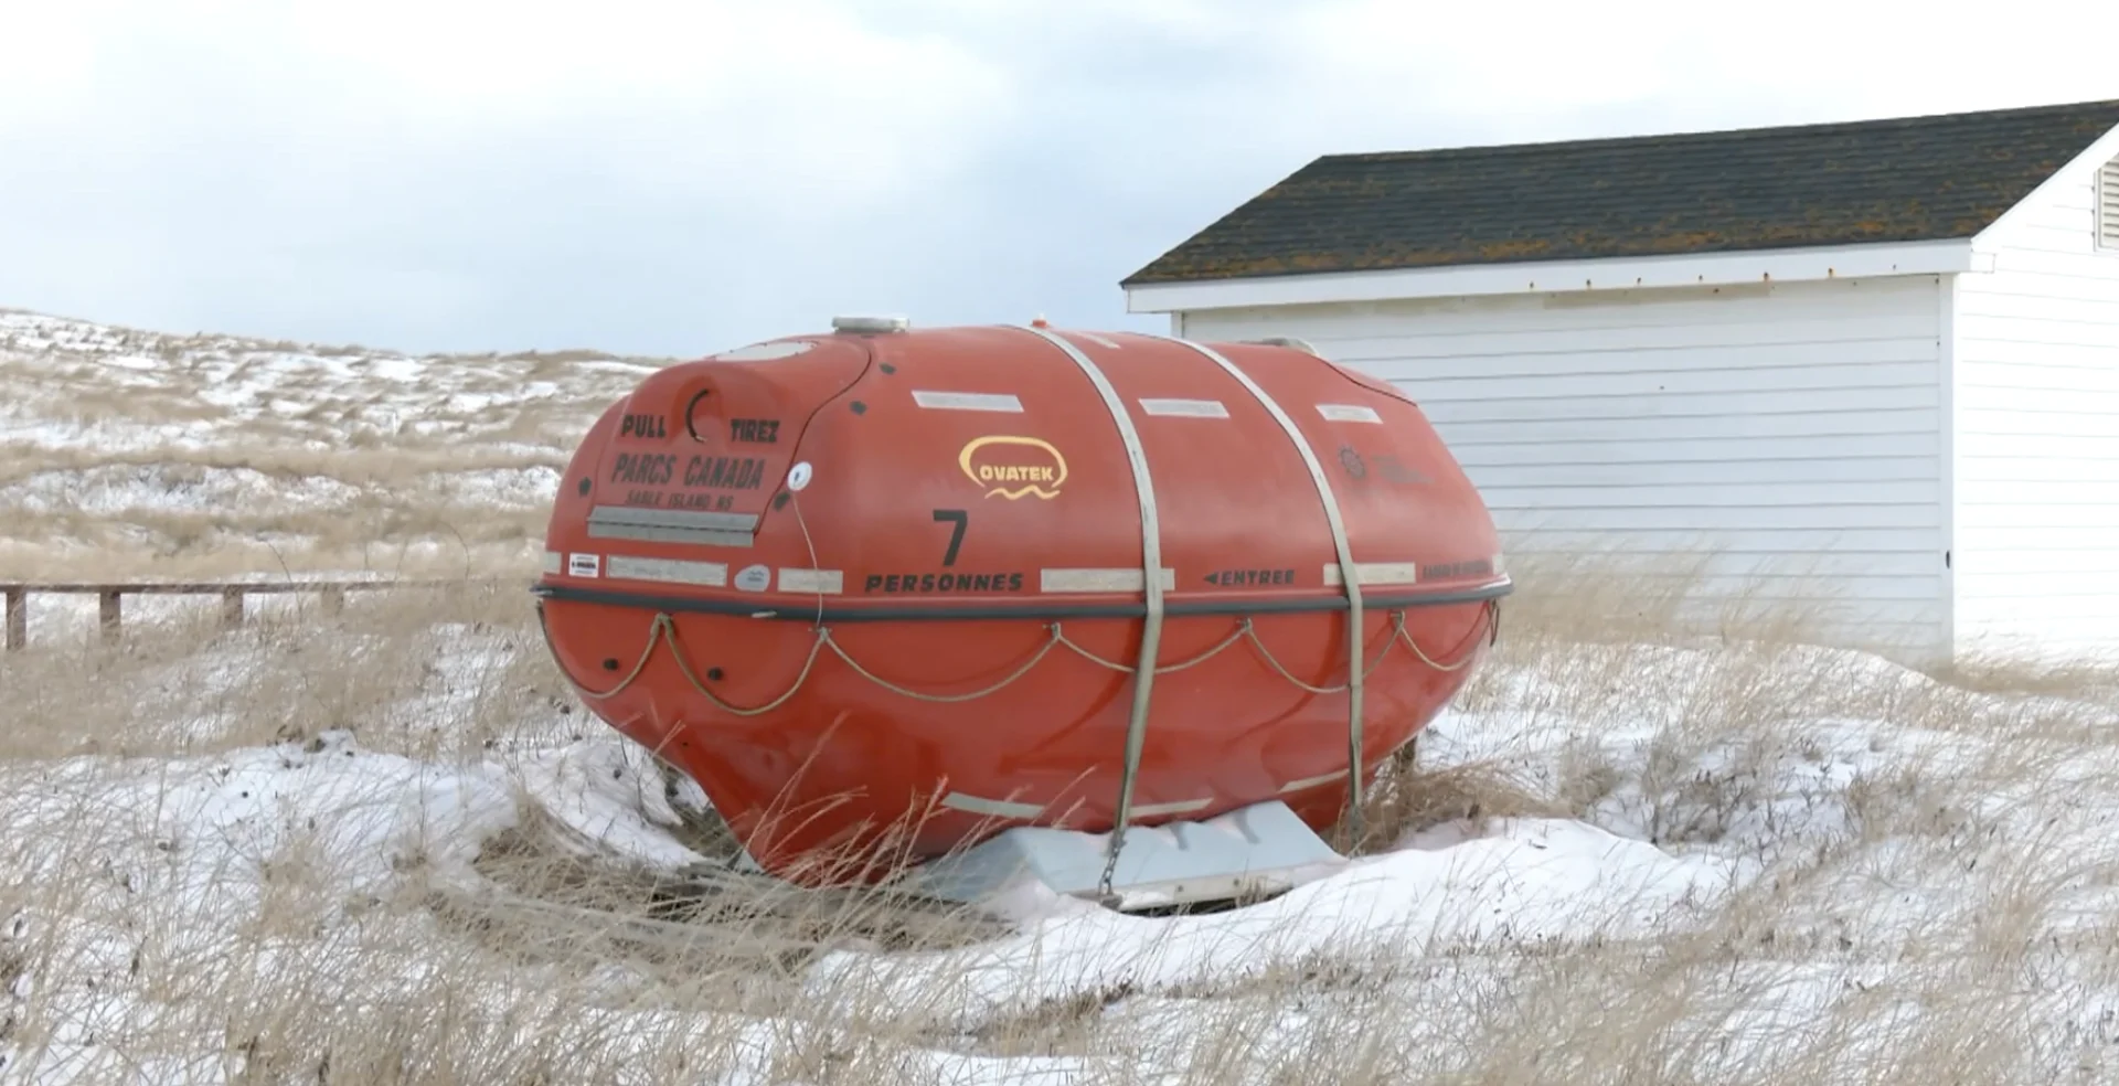
[[[1424,297],[1549,295],[1742,282],[1850,280],[1973,272],[1973,238],[1869,242],[1596,261],[1511,261],[1379,272],[1312,272],[1125,286],[1125,312],[1170,314]]]

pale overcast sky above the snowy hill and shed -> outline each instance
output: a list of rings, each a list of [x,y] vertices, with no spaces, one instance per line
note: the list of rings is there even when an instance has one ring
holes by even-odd
[[[0,305],[676,356],[1159,329],[1117,280],[1322,153],[2119,98],[2094,4],[1619,8],[0,0]]]

